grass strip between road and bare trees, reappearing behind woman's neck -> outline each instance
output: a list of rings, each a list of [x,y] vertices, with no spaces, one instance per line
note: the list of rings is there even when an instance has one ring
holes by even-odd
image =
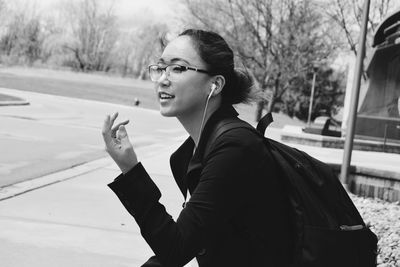
[[[158,109],[153,83],[105,74],[23,67],[0,68],[0,87],[128,106],[134,105],[137,98],[141,107]],[[255,105],[238,105],[237,109],[243,119],[254,123]],[[305,125],[284,114],[274,113],[273,117],[271,127]]]

